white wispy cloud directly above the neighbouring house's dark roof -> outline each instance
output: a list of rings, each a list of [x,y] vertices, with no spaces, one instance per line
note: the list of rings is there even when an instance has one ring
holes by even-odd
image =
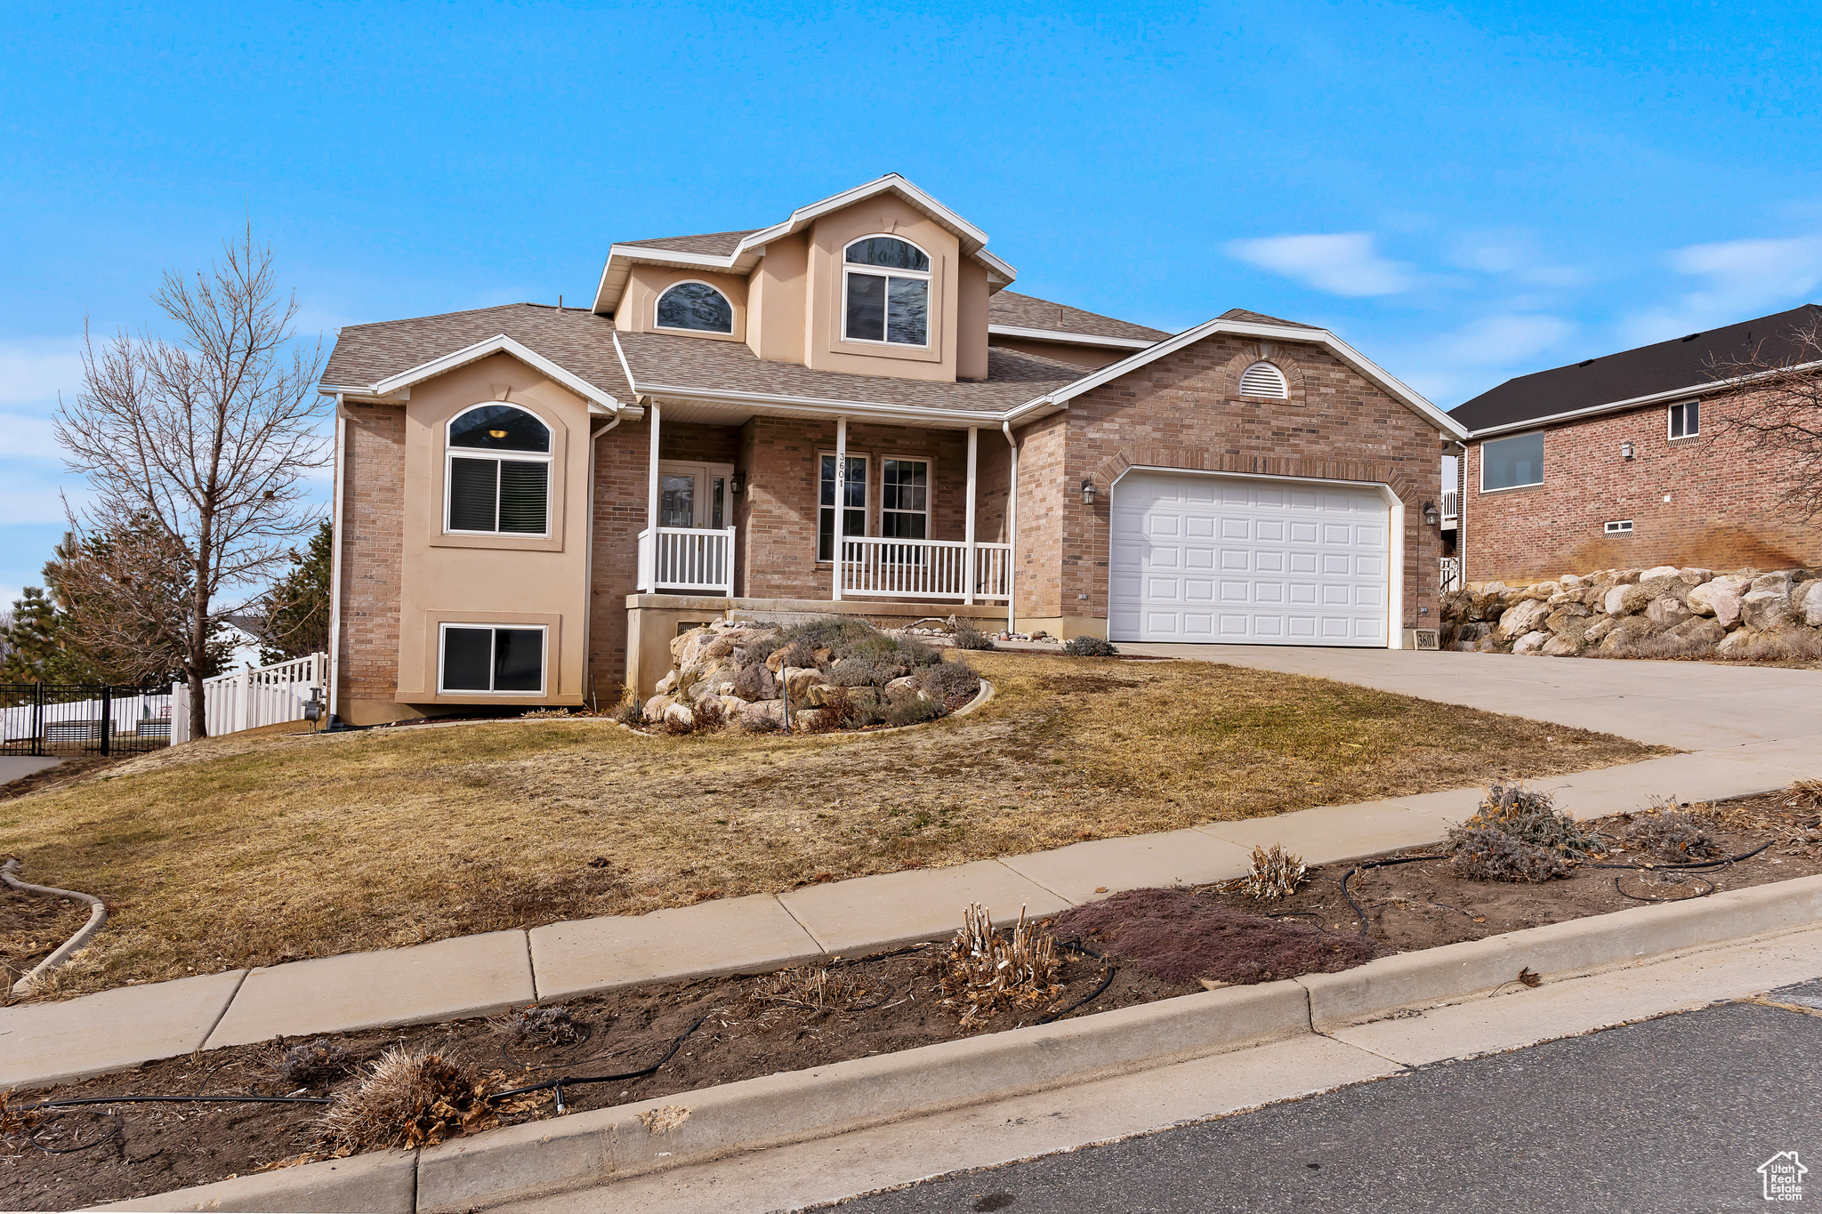
[[[1806,302],[1822,284],[1822,237],[1691,244],[1673,249],[1665,262],[1705,282],[1667,308],[1627,317],[1620,328],[1633,344],[1662,342]]]

